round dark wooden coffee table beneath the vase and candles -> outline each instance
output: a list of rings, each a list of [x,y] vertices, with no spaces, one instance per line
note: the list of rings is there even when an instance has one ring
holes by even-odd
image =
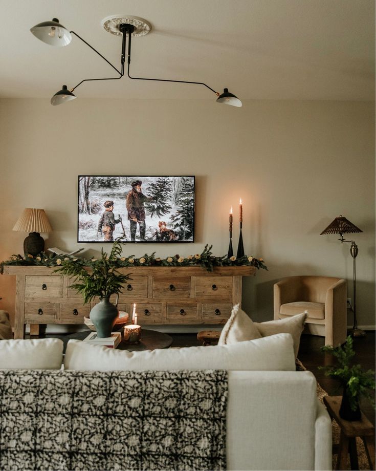
[[[64,353],[69,340],[83,340],[90,332],[91,330],[85,330],[70,335],[59,336],[64,342]],[[157,330],[142,329],[141,342],[139,344],[128,344],[128,342],[122,341],[116,348],[119,350],[128,350],[129,352],[142,352],[144,350],[155,350],[156,348],[168,348],[171,344],[172,337],[169,335],[158,332]]]

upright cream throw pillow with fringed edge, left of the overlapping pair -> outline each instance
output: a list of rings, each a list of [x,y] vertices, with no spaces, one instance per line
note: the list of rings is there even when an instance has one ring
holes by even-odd
[[[261,337],[253,320],[237,304],[233,307],[231,316],[220,333],[218,345],[231,345]]]

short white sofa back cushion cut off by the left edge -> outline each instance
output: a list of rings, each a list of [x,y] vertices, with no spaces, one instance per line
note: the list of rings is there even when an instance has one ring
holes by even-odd
[[[58,338],[0,340],[0,369],[59,370],[63,345]]]

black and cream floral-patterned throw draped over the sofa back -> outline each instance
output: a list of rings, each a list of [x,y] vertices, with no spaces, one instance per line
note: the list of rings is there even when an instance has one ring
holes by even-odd
[[[0,371],[1,469],[226,469],[227,372]]]

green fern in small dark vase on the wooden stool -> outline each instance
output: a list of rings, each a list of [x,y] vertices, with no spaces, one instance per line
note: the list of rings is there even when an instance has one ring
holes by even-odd
[[[372,391],[375,389],[374,371],[364,371],[360,365],[353,365],[352,358],[355,351],[352,348],[352,338],[347,337],[343,347],[325,346],[323,352],[332,354],[336,360],[336,365],[319,367],[325,371],[325,375],[339,381],[343,387],[340,416],[345,420],[360,420],[362,413],[359,407],[359,399],[367,397],[373,406]]]

